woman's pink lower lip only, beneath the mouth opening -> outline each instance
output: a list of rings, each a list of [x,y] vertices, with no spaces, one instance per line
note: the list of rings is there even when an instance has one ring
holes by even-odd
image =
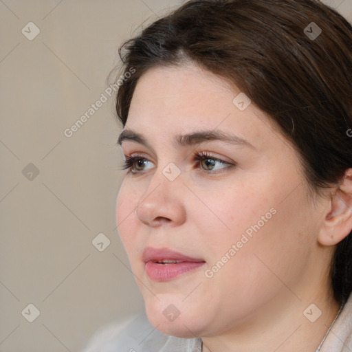
[[[154,281],[168,281],[181,274],[201,267],[205,262],[188,262],[175,264],[158,264],[153,261],[146,263],[146,274]]]

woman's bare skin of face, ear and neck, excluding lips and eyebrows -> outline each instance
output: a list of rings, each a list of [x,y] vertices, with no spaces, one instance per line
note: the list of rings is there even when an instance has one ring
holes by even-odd
[[[347,230],[335,239],[329,231],[343,206],[333,213],[331,190],[311,195],[294,148],[254,103],[240,111],[232,103],[239,93],[192,63],[154,67],[140,78],[124,129],[142,134],[148,146],[124,140],[122,151],[146,162],[135,163],[135,173],[125,171],[118,231],[148,319],[160,331],[201,337],[204,352],[313,352],[339,309],[328,273],[333,245]],[[172,142],[205,129],[233,133],[252,146]],[[193,159],[200,151],[232,167],[215,162],[212,170]],[[174,181],[162,173],[170,162],[181,172]],[[205,271],[272,208],[271,219],[207,278]],[[146,246],[206,263],[155,282],[144,269]],[[314,323],[303,315],[312,303],[322,312]],[[173,322],[163,314],[170,304],[180,312]]]

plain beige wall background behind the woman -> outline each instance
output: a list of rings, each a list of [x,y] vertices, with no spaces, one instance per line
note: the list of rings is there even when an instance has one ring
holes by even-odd
[[[64,131],[107,96],[120,43],[182,2],[0,1],[1,352],[78,351],[100,326],[143,309],[115,225],[113,98]],[[352,0],[325,2],[352,21]],[[40,30],[32,41],[29,22]],[[92,244],[100,233],[100,250],[111,242],[102,252]],[[33,322],[29,304],[40,311]]]

